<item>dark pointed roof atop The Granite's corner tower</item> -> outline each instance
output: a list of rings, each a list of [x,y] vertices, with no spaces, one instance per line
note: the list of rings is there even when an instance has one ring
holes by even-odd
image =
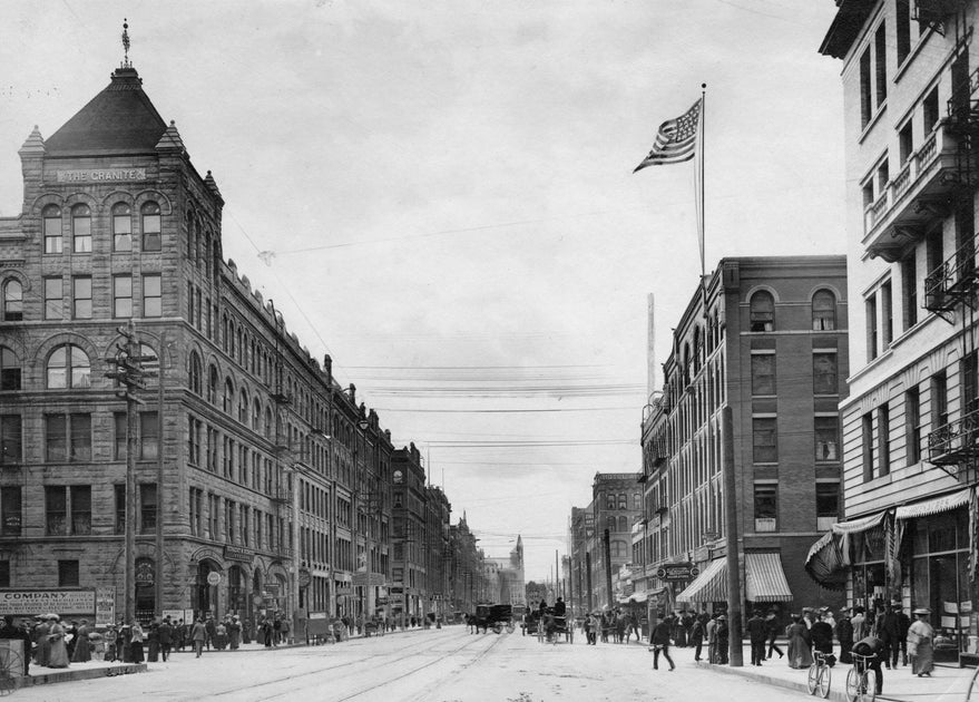
[[[143,91],[135,68],[117,68],[95,96],[45,143],[48,156],[155,154],[167,124]]]

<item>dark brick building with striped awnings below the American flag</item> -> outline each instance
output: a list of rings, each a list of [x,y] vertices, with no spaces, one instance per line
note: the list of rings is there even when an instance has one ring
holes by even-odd
[[[725,602],[731,499],[746,601],[836,604],[803,563],[813,535],[839,516],[845,260],[723,259],[703,284],[676,323],[643,421],[636,587],[654,613]],[[698,575],[660,569],[678,564]]]

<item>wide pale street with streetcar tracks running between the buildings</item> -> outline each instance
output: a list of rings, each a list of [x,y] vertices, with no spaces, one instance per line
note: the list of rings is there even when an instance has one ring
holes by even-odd
[[[800,693],[719,675],[675,649],[676,671],[652,670],[646,645],[538,643],[533,636],[470,634],[463,626],[413,630],[336,645],[276,651],[175,654],[149,672],[39,685],[18,700],[85,702],[106,699],[316,700],[317,702],[550,702],[668,700],[669,702],[799,700]],[[84,664],[78,664],[79,667]]]

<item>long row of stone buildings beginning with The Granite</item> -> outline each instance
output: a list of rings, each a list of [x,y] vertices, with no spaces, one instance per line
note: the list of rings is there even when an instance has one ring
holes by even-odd
[[[399,620],[492,589],[414,445],[223,257],[217,184],[128,60],[19,153],[22,212],[0,220],[0,613]]]

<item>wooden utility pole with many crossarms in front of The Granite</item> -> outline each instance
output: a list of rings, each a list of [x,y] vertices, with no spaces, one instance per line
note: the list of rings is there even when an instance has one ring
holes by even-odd
[[[118,392],[126,399],[126,535],[123,545],[125,559],[123,588],[124,588],[124,617],[127,624],[136,618],[136,451],[138,450],[138,409],[143,401],[136,397],[136,391],[146,387],[146,371],[143,369],[145,361],[154,361],[156,357],[140,355],[140,344],[136,339],[136,329],[130,320],[126,326],[116,330],[125,341],[116,343],[116,354],[106,359],[106,362],[115,369],[106,372],[106,378],[111,378],[125,388]],[[160,437],[161,442],[163,437]],[[159,490],[159,486],[157,486]],[[163,515],[157,515],[161,518]],[[157,563],[157,579],[160,578],[163,568],[163,554],[159,554]]]

